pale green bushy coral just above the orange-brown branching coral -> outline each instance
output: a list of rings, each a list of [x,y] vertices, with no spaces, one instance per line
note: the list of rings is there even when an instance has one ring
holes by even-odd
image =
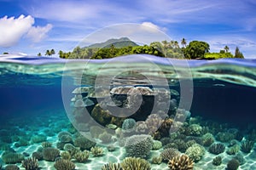
[[[185,154],[195,162],[200,161],[201,157],[205,154],[205,148],[200,144],[193,144],[186,150]]]

